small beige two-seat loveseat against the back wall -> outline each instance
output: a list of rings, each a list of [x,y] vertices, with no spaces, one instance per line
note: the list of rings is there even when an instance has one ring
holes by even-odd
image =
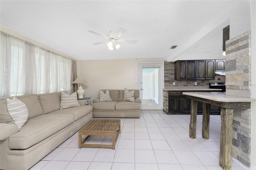
[[[106,90],[102,90],[104,93]],[[123,101],[124,90],[109,90],[112,101],[100,102],[99,98],[93,100],[93,117],[140,117],[140,91],[134,90],[135,102]]]

